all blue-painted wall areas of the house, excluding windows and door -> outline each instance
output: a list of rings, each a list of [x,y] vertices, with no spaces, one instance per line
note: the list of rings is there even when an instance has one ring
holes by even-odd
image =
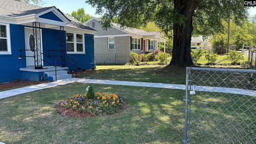
[[[65,33],[66,34],[66,33]],[[22,57],[19,60],[19,55],[25,56],[26,52],[19,49],[25,50],[25,27],[21,25],[10,24],[10,35],[11,35],[11,52],[12,54],[0,55],[0,83],[15,81],[17,79],[34,80],[39,81],[42,77],[42,73],[30,73],[20,71],[20,68],[26,67],[26,58]],[[84,34],[85,37],[85,54],[69,54],[71,57],[77,59],[78,70],[93,69],[94,68],[94,40],[93,35]],[[47,50],[60,50],[60,30],[45,29],[42,28],[42,42],[43,42],[43,53],[47,55],[61,55],[60,52],[49,52]],[[66,35],[63,36],[65,42],[66,51]],[[51,58],[46,56],[43,57],[45,61],[54,64]],[[57,65],[61,66],[61,57],[53,57],[58,60]],[[66,57],[66,59],[74,62],[73,59]],[[44,62],[44,66],[51,66]],[[69,62],[66,62],[66,66],[69,70],[74,70],[75,67]]]

